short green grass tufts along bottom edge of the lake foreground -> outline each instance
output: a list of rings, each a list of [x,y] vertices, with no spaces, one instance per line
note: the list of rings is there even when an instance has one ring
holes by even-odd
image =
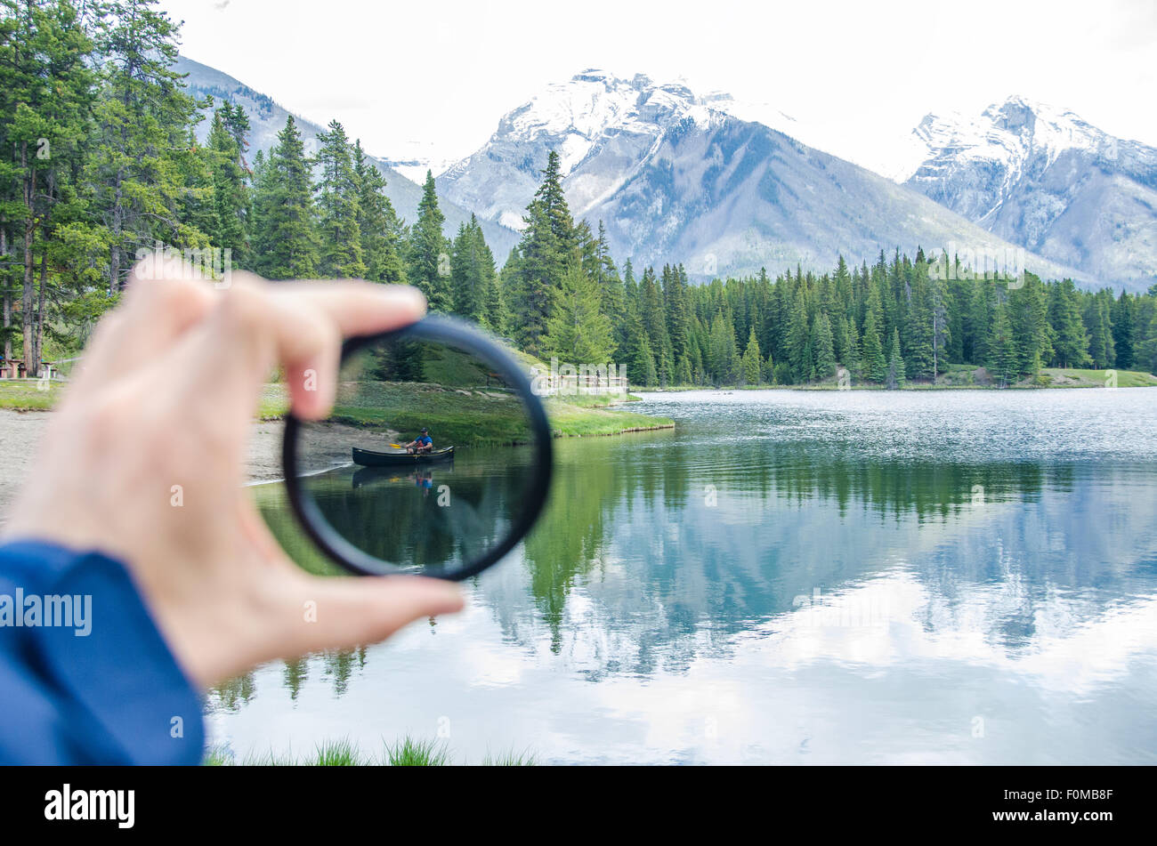
[[[456,762],[445,742],[414,740],[406,735],[397,743],[384,744],[379,755],[367,755],[348,739],[329,741],[316,747],[308,755],[293,752],[249,755],[238,759],[223,747],[213,747],[205,752],[205,766],[451,766]],[[464,765],[472,762],[462,760]],[[481,766],[535,766],[538,762],[532,752],[487,754]]]

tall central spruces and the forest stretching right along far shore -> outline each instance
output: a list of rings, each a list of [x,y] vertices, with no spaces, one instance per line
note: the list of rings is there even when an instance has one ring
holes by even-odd
[[[695,285],[666,265],[636,277],[611,258],[602,222],[573,220],[554,153],[524,220],[500,274],[506,329],[541,357],[617,358],[634,385],[798,385],[842,368],[897,387],[953,364],[986,366],[1000,385],[1046,366],[1157,371],[1157,285],[1114,296],[1032,273],[994,279],[919,247],[858,267],[840,257],[823,275]]]

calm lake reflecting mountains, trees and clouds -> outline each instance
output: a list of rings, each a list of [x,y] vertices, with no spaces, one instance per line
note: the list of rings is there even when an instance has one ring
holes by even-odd
[[[1157,763],[1157,389],[647,394],[467,609],[211,692],[239,757]],[[258,494],[279,532],[280,485]]]

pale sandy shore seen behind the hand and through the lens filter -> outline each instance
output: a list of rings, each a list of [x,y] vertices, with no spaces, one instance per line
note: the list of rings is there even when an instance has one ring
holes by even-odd
[[[21,485],[36,467],[40,438],[52,418],[51,411],[10,411],[0,409],[0,524],[3,522]],[[255,421],[250,428],[245,455],[245,476],[250,482],[282,478],[281,421]],[[334,423],[311,425],[304,433],[303,452],[308,452],[315,469],[324,469],[349,460],[349,447],[359,444],[383,448],[383,437],[354,426]]]

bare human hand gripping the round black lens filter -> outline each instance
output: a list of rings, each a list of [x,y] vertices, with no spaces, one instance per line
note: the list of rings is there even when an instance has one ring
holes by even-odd
[[[143,267],[97,327],[6,535],[123,561],[201,687],[460,609],[459,591],[437,579],[307,574],[242,488],[250,423],[274,365],[285,368],[295,414],[323,418],[342,336],[413,322],[422,296],[366,282],[270,284],[243,273],[215,290],[171,261],[156,262],[160,279],[142,276]]]

